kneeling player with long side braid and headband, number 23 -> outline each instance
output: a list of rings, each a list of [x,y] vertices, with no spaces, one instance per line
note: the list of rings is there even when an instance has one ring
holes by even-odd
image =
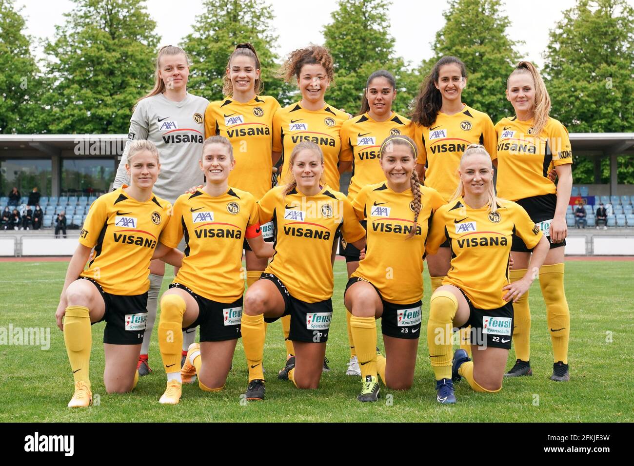
[[[380,164],[386,181],[365,186],[353,201],[359,221],[368,221],[365,257],[344,294],[363,377],[359,401],[377,401],[377,372],[395,390],[409,389],[414,380],[427,226],[444,204],[436,190],[420,185],[416,152],[408,136],[385,139]],[[385,358],[375,350],[378,318]]]

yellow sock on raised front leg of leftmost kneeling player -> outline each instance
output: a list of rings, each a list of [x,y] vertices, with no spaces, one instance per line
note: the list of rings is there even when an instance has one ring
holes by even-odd
[[[64,343],[75,383],[90,384],[88,368],[93,334],[90,330],[90,314],[87,307],[68,306],[64,317]]]

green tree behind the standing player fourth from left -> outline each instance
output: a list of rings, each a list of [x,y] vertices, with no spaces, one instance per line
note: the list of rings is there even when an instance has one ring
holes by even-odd
[[[335,67],[335,85],[326,98],[349,113],[358,112],[368,76],[376,70],[387,70],[396,78],[394,110],[406,113],[415,96],[418,76],[396,56],[394,38],[385,32],[390,6],[387,0],[339,0],[332,23],[323,29]]]

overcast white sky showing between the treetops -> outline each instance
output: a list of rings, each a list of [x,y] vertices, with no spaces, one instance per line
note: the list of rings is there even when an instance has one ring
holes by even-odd
[[[323,43],[323,25],[330,23],[330,13],[337,8],[336,0],[298,2],[296,0],[272,0],[276,33],[280,36],[277,52],[284,56],[290,51],[313,42]],[[524,58],[538,65],[543,63],[541,54],[548,44],[548,30],[571,8],[574,0],[506,0],[505,13],[511,20],[508,34],[516,41],[524,41],[521,48]],[[634,5],[634,0],[628,0]],[[152,0],[148,11],[157,22],[160,44],[179,44],[190,32],[196,15],[202,11],[201,0]],[[69,0],[16,0],[16,6],[24,6],[27,33],[34,37],[53,37],[55,25],[63,23],[63,13],[72,10]],[[390,34],[396,39],[398,55],[413,64],[432,55],[431,42],[436,31],[443,26],[442,13],[448,8],[446,0],[393,0]],[[427,25],[427,28],[423,27]],[[37,54],[41,56],[41,53]]]

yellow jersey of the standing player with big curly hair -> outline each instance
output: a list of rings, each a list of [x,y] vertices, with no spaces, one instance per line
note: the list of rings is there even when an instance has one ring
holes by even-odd
[[[287,183],[288,159],[293,148],[308,140],[320,146],[323,152],[324,179],[333,190],[339,190],[339,155],[341,151],[341,125],[348,114],[337,108],[326,107],[312,112],[298,103],[281,108],[273,117],[273,150],[281,152],[280,183]]]

